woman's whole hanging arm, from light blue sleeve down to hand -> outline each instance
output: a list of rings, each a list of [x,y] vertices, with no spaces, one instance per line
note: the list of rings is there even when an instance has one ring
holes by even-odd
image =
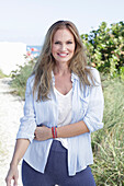
[[[5,182],[7,186],[11,185],[11,179],[14,179],[14,185],[18,185],[18,164],[24,155],[30,142],[34,139],[34,131],[36,128],[34,97],[32,93],[33,77],[29,78],[25,91],[24,116],[21,118],[21,125],[16,135],[16,143],[13,158],[10,164]]]

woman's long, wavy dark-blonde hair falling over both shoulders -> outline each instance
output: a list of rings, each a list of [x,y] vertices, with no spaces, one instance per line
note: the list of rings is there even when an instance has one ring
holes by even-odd
[[[32,74],[35,75],[33,94],[37,91],[37,101],[45,101],[48,98],[48,93],[52,86],[52,71],[55,68],[55,59],[52,55],[52,43],[57,30],[68,28],[75,37],[76,48],[75,54],[69,62],[69,70],[76,73],[80,79],[80,84],[91,85],[88,79],[90,77],[93,82],[93,77],[89,68],[87,68],[87,57],[84,47],[77,27],[70,21],[58,21],[54,23],[45,37],[45,42],[34,67]]]

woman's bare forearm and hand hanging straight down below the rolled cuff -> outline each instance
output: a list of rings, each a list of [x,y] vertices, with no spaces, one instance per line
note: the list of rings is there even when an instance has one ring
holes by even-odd
[[[27,139],[18,139],[15,143],[15,149],[13,153],[12,161],[10,163],[10,170],[8,172],[8,175],[5,177],[7,186],[11,186],[11,181],[14,179],[14,185],[18,185],[18,164],[22,156],[24,155],[27,147],[30,144],[30,140]]]

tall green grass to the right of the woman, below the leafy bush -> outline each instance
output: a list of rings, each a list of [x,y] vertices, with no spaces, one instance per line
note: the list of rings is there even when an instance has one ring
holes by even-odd
[[[92,133],[97,185],[124,185],[124,83],[119,79],[103,82],[104,128]]]

